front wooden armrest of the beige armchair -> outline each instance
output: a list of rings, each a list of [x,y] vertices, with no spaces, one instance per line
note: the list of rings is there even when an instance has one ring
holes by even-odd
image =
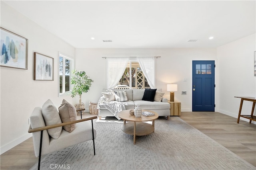
[[[82,122],[82,121],[88,121],[88,120],[92,120],[92,119],[97,119],[97,116],[92,116],[92,117],[79,119],[79,120],[75,120],[75,121],[69,121],[69,122],[65,122],[65,123],[59,123],[59,124],[56,124],[56,125],[38,127],[38,128],[35,128],[35,129],[31,129],[31,125],[30,125],[29,129],[28,129],[28,133],[43,131],[43,130],[52,129],[52,128],[55,128],[55,127],[70,125],[70,124],[73,124],[73,123],[79,123],[79,122]]]

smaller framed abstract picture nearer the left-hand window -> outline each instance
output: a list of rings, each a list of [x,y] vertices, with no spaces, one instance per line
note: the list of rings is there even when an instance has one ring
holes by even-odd
[[[54,80],[54,58],[34,52],[34,80]]]

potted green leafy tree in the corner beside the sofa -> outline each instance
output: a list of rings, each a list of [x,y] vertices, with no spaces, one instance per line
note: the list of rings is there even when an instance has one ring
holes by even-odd
[[[81,102],[82,94],[87,93],[90,90],[93,80],[90,79],[84,71],[73,70],[72,73],[74,76],[71,78],[71,84],[74,84],[74,87],[71,91],[71,97],[74,98],[76,95],[79,95],[79,105],[76,104],[75,107],[76,109],[82,109],[84,108],[84,104]]]

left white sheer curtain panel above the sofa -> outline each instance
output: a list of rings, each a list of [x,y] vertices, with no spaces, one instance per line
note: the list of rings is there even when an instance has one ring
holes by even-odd
[[[129,58],[127,57],[112,57],[107,58],[107,88],[114,88],[128,64]]]

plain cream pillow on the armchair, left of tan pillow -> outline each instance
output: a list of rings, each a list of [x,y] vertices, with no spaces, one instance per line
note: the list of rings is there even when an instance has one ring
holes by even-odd
[[[48,99],[42,106],[42,115],[44,117],[45,125],[55,125],[62,123],[60,119],[60,115],[58,113],[57,108],[54,106],[52,101]],[[62,131],[62,127],[55,127],[52,129],[47,129],[48,134],[54,138],[58,139],[60,137],[60,133]]]

